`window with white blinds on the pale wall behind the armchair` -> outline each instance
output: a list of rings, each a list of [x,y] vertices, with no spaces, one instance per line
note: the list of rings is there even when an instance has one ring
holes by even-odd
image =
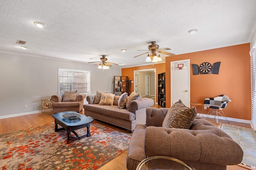
[[[90,71],[58,69],[59,93],[75,91],[90,94]]]

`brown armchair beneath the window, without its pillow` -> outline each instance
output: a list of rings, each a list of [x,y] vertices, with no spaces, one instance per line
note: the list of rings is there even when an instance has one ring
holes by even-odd
[[[84,98],[86,94],[80,93],[76,96],[76,102],[62,102],[63,94],[52,96],[52,113],[60,113],[64,111],[80,112],[84,106]]]

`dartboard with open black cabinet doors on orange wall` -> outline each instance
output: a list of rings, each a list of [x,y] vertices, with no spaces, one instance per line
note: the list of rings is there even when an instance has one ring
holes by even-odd
[[[208,63],[204,62],[200,64],[199,66],[197,64],[192,64],[193,74],[219,74],[220,70],[220,62],[216,63]]]

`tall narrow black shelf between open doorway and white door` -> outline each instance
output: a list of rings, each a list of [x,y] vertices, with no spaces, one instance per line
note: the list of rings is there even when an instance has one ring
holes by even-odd
[[[158,105],[165,106],[165,72],[158,74]]]

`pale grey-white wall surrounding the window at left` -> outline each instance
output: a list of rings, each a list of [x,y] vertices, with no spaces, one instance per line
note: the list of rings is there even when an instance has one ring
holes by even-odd
[[[58,68],[90,70],[91,94],[112,92],[113,76],[122,75],[117,67],[103,72],[87,63],[0,51],[0,119],[41,112],[41,99],[58,94]]]

